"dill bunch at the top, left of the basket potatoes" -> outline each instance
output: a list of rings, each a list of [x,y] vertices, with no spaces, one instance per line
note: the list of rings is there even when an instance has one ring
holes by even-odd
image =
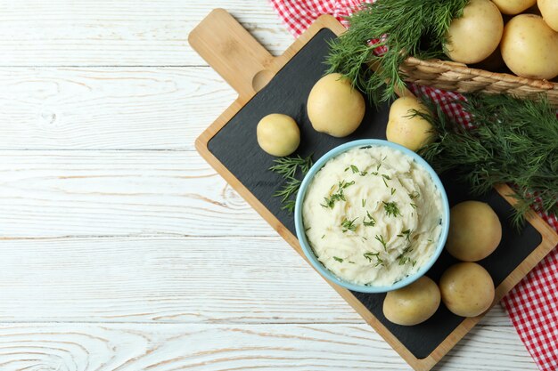
[[[375,104],[405,88],[399,66],[409,56],[444,58],[443,43],[451,20],[469,0],[376,0],[349,16],[349,29],[330,44],[328,73],[340,72]],[[379,40],[377,44],[371,40]],[[387,52],[373,50],[386,46]],[[377,68],[373,72],[369,66]],[[387,82],[387,84],[386,84]]]

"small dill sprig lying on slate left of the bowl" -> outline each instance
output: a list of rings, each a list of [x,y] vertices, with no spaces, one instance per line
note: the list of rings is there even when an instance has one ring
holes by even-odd
[[[281,189],[276,190],[273,197],[281,198],[281,210],[287,210],[289,213],[294,212],[296,202],[292,196],[296,196],[300,188],[301,181],[296,178],[298,173],[304,175],[308,173],[310,167],[314,164],[312,161],[312,154],[308,157],[280,157],[275,158],[275,165],[271,166],[269,170],[283,176],[286,181],[283,183]]]

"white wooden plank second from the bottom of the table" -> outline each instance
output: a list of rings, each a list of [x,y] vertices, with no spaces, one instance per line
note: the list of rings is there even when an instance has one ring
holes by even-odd
[[[0,254],[0,322],[364,323],[279,237],[4,239]],[[487,323],[511,327],[499,306]]]

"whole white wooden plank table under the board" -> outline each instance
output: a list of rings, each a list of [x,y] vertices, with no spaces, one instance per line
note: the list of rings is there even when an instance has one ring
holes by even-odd
[[[408,369],[193,149],[234,91],[189,47],[266,1],[0,0],[0,370]],[[443,370],[535,370],[499,306]]]

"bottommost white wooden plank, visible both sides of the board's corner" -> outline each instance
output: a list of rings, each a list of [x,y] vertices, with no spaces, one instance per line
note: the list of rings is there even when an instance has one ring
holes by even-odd
[[[464,345],[466,344],[466,346]],[[536,370],[510,328],[478,327],[448,371]],[[1,324],[0,367],[53,370],[407,370],[365,325]]]

